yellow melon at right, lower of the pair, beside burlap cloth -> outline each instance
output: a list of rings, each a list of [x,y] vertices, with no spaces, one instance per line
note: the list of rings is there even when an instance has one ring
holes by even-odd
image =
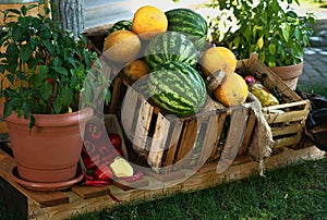
[[[214,90],[214,98],[227,107],[244,103],[247,95],[247,85],[244,78],[237,73],[226,74],[222,83]]]

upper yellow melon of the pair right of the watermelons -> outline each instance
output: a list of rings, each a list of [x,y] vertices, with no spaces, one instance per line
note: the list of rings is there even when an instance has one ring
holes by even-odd
[[[205,76],[211,75],[216,71],[233,73],[237,69],[235,54],[226,47],[213,47],[207,49],[201,59],[202,72]]]

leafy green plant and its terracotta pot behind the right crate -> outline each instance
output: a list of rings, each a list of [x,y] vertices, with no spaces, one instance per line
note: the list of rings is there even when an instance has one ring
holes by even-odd
[[[298,0],[211,1],[207,7],[221,12],[209,22],[213,41],[229,47],[239,59],[257,52],[259,60],[294,89],[296,82],[291,81],[302,73],[303,50],[310,46],[315,19],[311,13],[298,15],[291,8],[293,2],[299,4]],[[229,25],[226,32],[221,32],[223,21]],[[279,66],[291,69],[291,75],[282,75],[286,73]]]

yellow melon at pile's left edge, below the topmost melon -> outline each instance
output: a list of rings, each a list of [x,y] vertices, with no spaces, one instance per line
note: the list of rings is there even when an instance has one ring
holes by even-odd
[[[126,29],[109,34],[104,42],[106,57],[113,62],[129,62],[135,60],[141,50],[138,36]]]

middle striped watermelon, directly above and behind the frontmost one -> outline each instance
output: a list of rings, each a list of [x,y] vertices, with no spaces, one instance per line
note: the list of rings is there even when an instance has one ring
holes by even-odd
[[[184,62],[191,66],[197,63],[197,50],[185,35],[166,32],[149,40],[145,48],[145,62],[149,70],[169,61]]]

